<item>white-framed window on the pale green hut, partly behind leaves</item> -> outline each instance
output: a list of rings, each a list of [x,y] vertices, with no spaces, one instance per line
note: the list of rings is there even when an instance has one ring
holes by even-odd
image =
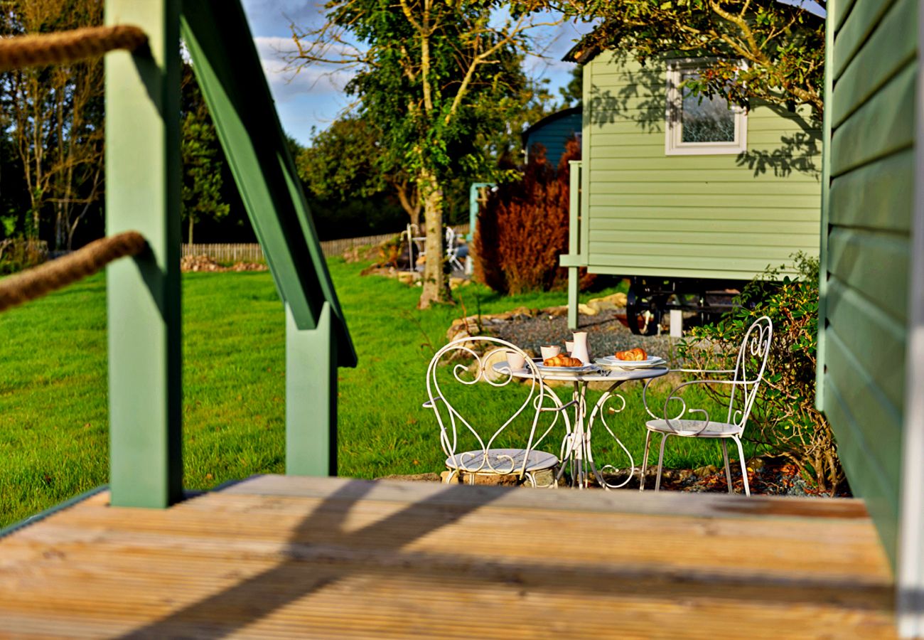
[[[684,87],[699,77],[702,60],[667,64],[667,123],[664,153],[668,155],[740,154],[748,149],[748,116],[721,96],[694,95]]]

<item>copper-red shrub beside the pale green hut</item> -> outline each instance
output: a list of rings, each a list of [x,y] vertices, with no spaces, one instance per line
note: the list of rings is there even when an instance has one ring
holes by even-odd
[[[478,216],[475,276],[503,293],[558,289],[567,281],[558,257],[568,245],[568,161],[580,158],[580,144],[568,141],[557,171],[541,145],[529,155],[523,178],[492,193]]]

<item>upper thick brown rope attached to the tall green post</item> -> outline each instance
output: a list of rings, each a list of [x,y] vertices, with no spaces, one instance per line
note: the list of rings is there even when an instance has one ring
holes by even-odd
[[[116,49],[133,51],[147,42],[144,31],[126,24],[0,38],[0,71],[77,62]]]

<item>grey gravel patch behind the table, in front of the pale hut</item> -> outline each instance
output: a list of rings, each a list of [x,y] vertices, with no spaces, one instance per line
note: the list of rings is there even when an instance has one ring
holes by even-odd
[[[671,361],[671,338],[663,336],[636,336],[616,319],[624,311],[602,311],[597,315],[581,315],[578,324],[581,331],[588,332],[590,355],[598,357],[612,355],[616,351],[625,351],[641,347],[652,355]],[[498,338],[513,342],[525,350],[539,354],[542,345],[557,344],[565,348],[565,340],[571,339],[567,316],[538,315],[534,318],[522,318],[510,322],[492,325],[492,332]]]

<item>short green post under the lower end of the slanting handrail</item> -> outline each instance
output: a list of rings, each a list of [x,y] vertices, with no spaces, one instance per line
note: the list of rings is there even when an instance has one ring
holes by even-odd
[[[286,304],[286,474],[337,474],[337,340],[331,305],[299,329]]]

